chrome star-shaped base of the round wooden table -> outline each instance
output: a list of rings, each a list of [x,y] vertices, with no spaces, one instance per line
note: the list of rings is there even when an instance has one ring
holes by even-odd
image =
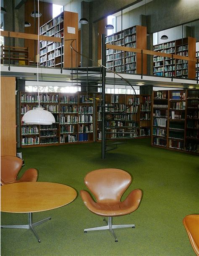
[[[29,229],[31,230],[34,235],[36,236],[38,242],[40,243],[41,240],[39,239],[39,236],[37,235],[36,231],[34,230],[34,227],[37,227],[39,226],[40,224],[44,223],[44,222],[47,222],[48,220],[50,220],[51,217],[48,217],[46,219],[42,219],[40,220],[39,222],[35,222],[35,223],[32,223],[32,212],[29,212],[29,215],[28,215],[28,220],[29,220],[29,224],[27,225],[5,225],[5,226],[1,226],[1,228],[22,228],[22,229]]]

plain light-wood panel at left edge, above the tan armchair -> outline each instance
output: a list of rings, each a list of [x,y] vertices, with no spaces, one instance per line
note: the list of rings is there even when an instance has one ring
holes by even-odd
[[[16,156],[15,77],[1,77],[1,156]]]

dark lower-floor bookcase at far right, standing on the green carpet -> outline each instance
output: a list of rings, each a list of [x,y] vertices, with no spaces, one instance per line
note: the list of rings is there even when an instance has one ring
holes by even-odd
[[[199,91],[153,92],[152,145],[199,153]]]

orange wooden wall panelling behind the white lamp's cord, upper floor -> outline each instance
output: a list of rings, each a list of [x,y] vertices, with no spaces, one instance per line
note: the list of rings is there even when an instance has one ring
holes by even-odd
[[[36,1],[36,11],[37,1]],[[25,21],[30,22],[31,26],[25,27],[25,33],[28,34],[38,34],[38,18],[36,18],[36,31],[34,26],[34,18],[30,16],[31,12],[34,11],[34,0],[27,0],[25,3]],[[39,18],[39,27],[45,24],[47,21],[52,19],[52,3],[39,2],[39,12],[42,16]],[[34,54],[34,44],[35,44],[35,54]],[[25,47],[30,49],[30,60],[34,61],[34,56],[37,55],[37,41],[35,40],[25,40]]]

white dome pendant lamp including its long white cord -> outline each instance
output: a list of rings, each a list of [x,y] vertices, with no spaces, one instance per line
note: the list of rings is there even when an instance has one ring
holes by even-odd
[[[39,0],[38,0],[38,12],[39,12]],[[37,45],[37,54],[39,55],[39,18],[38,18],[38,45]],[[34,108],[29,110],[22,117],[22,121],[25,124],[52,124],[55,123],[55,117],[44,108],[40,107],[39,102],[39,62],[37,61],[37,91],[38,91],[38,103],[39,108]]]

